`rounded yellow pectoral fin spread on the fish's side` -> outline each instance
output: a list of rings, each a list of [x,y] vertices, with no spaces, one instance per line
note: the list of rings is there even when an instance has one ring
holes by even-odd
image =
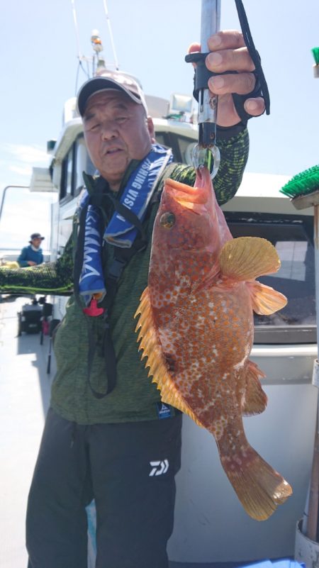
[[[272,274],[280,268],[275,247],[259,237],[238,237],[228,240],[219,255],[224,277],[232,280],[252,280],[262,274]]]

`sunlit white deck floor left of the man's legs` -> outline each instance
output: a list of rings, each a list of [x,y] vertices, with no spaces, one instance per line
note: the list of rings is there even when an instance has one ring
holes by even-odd
[[[28,490],[50,401],[54,362],[47,374],[49,338],[17,337],[17,312],[26,297],[0,301],[1,553],[0,568],[26,568]]]

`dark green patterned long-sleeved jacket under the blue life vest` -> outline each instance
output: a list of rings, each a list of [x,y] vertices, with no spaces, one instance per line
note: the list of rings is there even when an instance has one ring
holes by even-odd
[[[229,140],[220,140],[218,145],[222,159],[214,187],[218,202],[223,204],[235,195],[242,179],[248,156],[247,130],[242,130],[240,134]],[[192,167],[176,165],[173,171],[172,167],[170,168],[169,177],[194,184],[195,172]],[[166,177],[165,172],[163,177]],[[162,185],[163,178],[159,180],[159,189]],[[116,199],[120,197],[121,189]],[[106,206],[106,220],[111,218],[112,208],[111,205]],[[67,303],[65,318],[57,328],[55,336],[57,373],[52,384],[51,396],[52,408],[69,421],[94,424],[146,421],[157,418],[159,391],[147,378],[145,365],[140,360],[134,320],[140,296],[147,286],[152,226],[157,208],[158,201],[152,204],[150,214],[143,223],[148,239],[146,249],[131,258],[118,283],[110,315],[118,377],[113,391],[101,399],[92,394],[87,379],[88,325],[91,337],[94,338],[96,345],[99,345],[103,334],[103,321],[100,316],[96,318],[85,316],[79,302],[72,294],[74,239],[69,239],[64,254],[55,263],[23,269],[0,267],[2,293],[72,294]],[[75,222],[77,223],[77,219]],[[112,245],[107,245],[103,250],[105,250],[102,259],[103,271],[107,274],[113,260],[114,249]],[[99,349],[96,349],[91,368],[91,384],[96,391],[102,393],[107,387],[106,365],[105,357],[101,356]]]

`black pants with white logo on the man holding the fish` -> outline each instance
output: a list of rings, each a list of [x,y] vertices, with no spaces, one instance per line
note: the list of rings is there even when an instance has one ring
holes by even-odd
[[[96,568],[167,568],[181,415],[74,425],[49,410],[30,488],[29,568],[86,568],[85,507],[96,501]]]

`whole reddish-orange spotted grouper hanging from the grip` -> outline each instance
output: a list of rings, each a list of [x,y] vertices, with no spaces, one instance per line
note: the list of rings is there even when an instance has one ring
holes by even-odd
[[[164,185],[155,219],[138,341],[162,401],[207,428],[247,513],[267,519],[291,486],[247,442],[242,416],[261,413],[264,373],[249,360],[253,311],[274,313],[286,297],[255,279],[277,272],[268,240],[233,238],[206,167],[195,186]]]

